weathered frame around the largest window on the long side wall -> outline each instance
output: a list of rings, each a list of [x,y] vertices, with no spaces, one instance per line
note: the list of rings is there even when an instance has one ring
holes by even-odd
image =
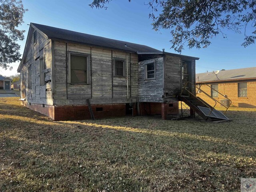
[[[86,83],[72,83],[71,82],[71,55],[76,55],[76,56],[84,56],[86,57],[86,64],[87,64],[87,82]],[[68,52],[68,83],[69,84],[82,84],[82,85],[88,85],[90,84],[90,54],[86,53],[78,53],[78,52]]]

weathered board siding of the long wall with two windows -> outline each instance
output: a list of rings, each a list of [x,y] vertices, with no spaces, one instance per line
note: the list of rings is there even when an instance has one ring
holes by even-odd
[[[67,46],[67,47],[66,47]],[[88,68],[88,84],[70,84],[67,63],[69,52],[88,54],[90,68]],[[128,56],[128,94],[126,77],[115,77],[114,58],[126,60]],[[130,76],[130,61],[131,73]],[[89,63],[88,63],[89,64]],[[67,67],[66,67],[67,66]],[[126,66],[126,62],[125,62]],[[137,54],[90,47],[82,44],[54,41],[54,104],[87,104],[90,99],[92,104],[128,103],[136,101],[138,97],[138,56]],[[68,83],[67,83],[68,82]],[[132,98],[132,99],[131,99]]]

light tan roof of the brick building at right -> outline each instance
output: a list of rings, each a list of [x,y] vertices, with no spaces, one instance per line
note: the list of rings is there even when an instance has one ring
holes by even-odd
[[[218,76],[218,78],[217,78]],[[196,82],[218,82],[242,79],[256,79],[256,67],[223,70],[217,76],[213,72],[196,74]]]

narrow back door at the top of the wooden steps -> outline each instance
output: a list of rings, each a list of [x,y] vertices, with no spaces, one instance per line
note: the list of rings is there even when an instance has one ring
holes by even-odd
[[[190,91],[190,68],[191,68],[191,62],[190,61],[184,61],[182,60],[182,74],[181,74],[181,83],[182,83],[182,96],[189,96]]]

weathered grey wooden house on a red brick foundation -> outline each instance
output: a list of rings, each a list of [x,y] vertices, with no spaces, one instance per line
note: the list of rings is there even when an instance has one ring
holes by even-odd
[[[23,105],[54,120],[178,113],[199,58],[31,23],[18,67]],[[182,88],[187,86],[182,95]]]

